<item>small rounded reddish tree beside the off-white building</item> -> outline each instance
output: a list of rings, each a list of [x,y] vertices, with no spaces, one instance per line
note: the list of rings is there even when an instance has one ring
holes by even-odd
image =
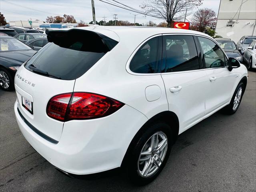
[[[216,13],[212,9],[203,8],[194,13],[192,25],[197,31],[204,32],[216,22]]]

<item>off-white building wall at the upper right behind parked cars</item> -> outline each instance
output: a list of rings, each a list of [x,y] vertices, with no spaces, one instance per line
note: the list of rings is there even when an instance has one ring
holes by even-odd
[[[220,0],[216,32],[234,42],[256,36],[256,0]]]

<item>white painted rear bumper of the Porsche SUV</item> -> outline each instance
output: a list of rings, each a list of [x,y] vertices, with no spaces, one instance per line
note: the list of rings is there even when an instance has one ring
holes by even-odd
[[[140,127],[148,120],[130,106],[110,116],[64,123],[57,144],[34,132],[14,111],[18,126],[30,145],[56,168],[76,175],[94,174],[121,166],[126,150]]]

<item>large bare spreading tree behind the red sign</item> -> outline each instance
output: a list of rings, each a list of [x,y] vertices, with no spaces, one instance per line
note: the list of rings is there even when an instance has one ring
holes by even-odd
[[[147,14],[166,20],[168,27],[172,20],[184,19],[191,14],[192,8],[200,6],[202,0],[146,0],[140,8]]]

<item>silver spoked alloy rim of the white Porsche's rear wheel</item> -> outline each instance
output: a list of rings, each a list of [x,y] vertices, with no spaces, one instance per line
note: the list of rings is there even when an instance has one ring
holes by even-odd
[[[168,139],[164,132],[156,132],[144,144],[137,167],[140,176],[152,176],[160,168],[166,156]]]

